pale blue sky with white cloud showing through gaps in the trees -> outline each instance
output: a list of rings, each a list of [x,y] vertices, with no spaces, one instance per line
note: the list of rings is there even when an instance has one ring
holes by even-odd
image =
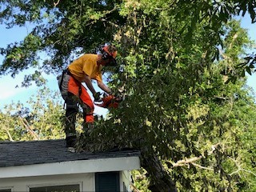
[[[242,27],[248,29],[248,33],[251,39],[254,39],[256,42],[256,24],[250,23],[250,17],[246,15],[245,18],[242,18]],[[32,26],[27,25],[26,27],[14,27],[12,29],[7,30],[5,26],[0,25],[0,47],[6,47],[7,44],[11,42],[19,42],[21,41],[26,34],[28,34],[32,30]],[[256,48],[254,46],[254,48]],[[256,52],[256,49],[252,50],[252,52]],[[3,57],[0,55],[0,64],[2,64]],[[8,105],[11,102],[18,102],[21,101],[23,103],[26,103],[26,101],[29,100],[29,98],[36,94],[38,87],[36,86],[30,86],[29,88],[22,88],[21,82],[23,80],[23,77],[26,73],[29,73],[28,71],[24,71],[18,75],[16,75],[15,78],[11,78],[10,76],[4,76],[0,77],[0,110],[4,105]],[[54,75],[48,75],[46,76],[48,82],[47,86],[50,87],[51,90],[58,90],[58,83],[56,80],[56,77]],[[256,92],[256,74],[253,74],[249,76],[248,78],[248,85],[254,88],[254,91]],[[19,88],[15,88],[16,86],[19,86]],[[106,114],[107,110],[102,110],[102,108],[96,107],[95,114]]]

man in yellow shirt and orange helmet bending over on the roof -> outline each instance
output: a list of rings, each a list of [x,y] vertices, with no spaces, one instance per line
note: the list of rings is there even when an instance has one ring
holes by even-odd
[[[100,101],[100,93],[94,90],[91,80],[98,83],[98,87],[107,94],[111,90],[102,82],[102,66],[116,66],[117,50],[112,45],[105,45],[99,54],[84,54],[64,70],[62,78],[59,79],[59,86],[62,97],[66,101],[66,146],[74,147],[76,142],[76,114],[78,113],[78,104],[82,106],[84,118],[84,131],[89,132],[94,123],[94,102],[90,98],[82,82],[93,94],[94,101]]]

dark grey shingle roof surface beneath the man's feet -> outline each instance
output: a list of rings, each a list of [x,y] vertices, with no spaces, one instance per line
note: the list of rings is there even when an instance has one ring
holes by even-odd
[[[71,153],[65,140],[41,140],[26,142],[0,142],[0,167],[69,162],[96,158],[122,158],[139,156],[138,150],[120,150],[102,153]]]

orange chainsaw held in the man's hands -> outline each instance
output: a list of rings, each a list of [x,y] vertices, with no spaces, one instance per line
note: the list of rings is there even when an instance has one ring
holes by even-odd
[[[119,102],[122,102],[121,97],[115,97],[113,94],[103,94],[102,102],[97,103],[94,102],[96,106],[100,106],[103,108],[118,108]]]

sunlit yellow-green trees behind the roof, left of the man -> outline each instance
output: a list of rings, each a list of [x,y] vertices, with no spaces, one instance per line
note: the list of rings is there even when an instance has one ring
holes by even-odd
[[[5,106],[0,110],[0,140],[63,138],[63,110],[58,98],[58,93],[44,87],[26,106],[21,102]]]

